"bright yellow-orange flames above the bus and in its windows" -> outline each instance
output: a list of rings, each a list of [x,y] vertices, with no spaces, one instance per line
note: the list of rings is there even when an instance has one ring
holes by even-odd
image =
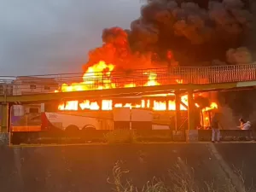
[[[80,83],[73,83],[73,84],[62,84],[61,91],[62,92],[70,92],[70,91],[80,91],[80,90],[103,90],[103,89],[115,89],[117,87],[136,87],[137,82],[124,83],[124,84],[115,84],[112,82],[111,74],[113,73],[114,65],[107,64],[104,61],[100,61],[91,67],[88,67],[87,71],[84,73],[83,82]],[[154,86],[160,85],[157,81],[157,73],[150,72],[143,73],[145,75],[145,79],[140,84],[143,86]],[[126,80],[124,82],[127,82]],[[183,84],[183,79],[175,79],[177,84]],[[55,92],[58,92],[56,90]],[[161,94],[158,96],[162,96],[165,98],[166,96],[174,96],[174,94]],[[153,96],[152,96],[153,97]],[[183,95],[181,96],[180,110],[186,111],[188,108],[188,96]],[[201,108],[198,103],[195,103],[196,108]],[[151,108],[154,111],[174,111],[176,110],[176,105],[174,99],[164,99],[158,101],[157,99],[150,98],[141,99],[139,102],[131,103],[114,103],[113,100],[102,100],[102,101],[67,101],[62,102],[58,109],[61,111],[66,110],[103,110],[109,111],[113,110],[113,108]],[[218,108],[215,102],[209,103],[208,106],[201,108],[201,113],[203,114],[203,121],[201,122],[202,125],[209,124],[209,118],[207,117],[207,111],[211,110],[212,108]]]

